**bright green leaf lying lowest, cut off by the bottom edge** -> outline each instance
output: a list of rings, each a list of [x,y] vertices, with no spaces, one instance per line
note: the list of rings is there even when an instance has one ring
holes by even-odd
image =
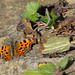
[[[53,75],[53,72],[42,72],[42,71],[34,71],[34,70],[29,70],[27,72],[24,72],[24,75]]]

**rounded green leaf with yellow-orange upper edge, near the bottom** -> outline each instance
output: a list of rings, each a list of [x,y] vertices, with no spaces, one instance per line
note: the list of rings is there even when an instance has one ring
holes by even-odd
[[[37,66],[37,69],[44,72],[53,72],[55,69],[55,66],[52,63],[41,64]]]

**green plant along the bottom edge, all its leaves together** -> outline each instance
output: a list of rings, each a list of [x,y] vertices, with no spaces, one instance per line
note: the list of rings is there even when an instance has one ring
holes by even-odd
[[[61,73],[60,71],[63,73],[63,70],[66,68],[68,61],[68,56],[65,56],[64,59],[62,59],[60,62],[57,62],[56,65],[52,63],[40,64],[37,66],[37,71],[29,70],[24,72],[24,75],[55,75],[55,71],[59,70],[59,68],[59,73]],[[56,70],[56,68],[58,69]]]

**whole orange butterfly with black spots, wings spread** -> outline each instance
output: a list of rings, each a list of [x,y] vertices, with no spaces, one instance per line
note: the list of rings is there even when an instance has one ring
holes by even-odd
[[[7,61],[12,60],[14,57],[24,55],[31,50],[34,43],[36,43],[36,39],[29,38],[16,43],[11,42],[11,45],[1,46],[0,58]]]

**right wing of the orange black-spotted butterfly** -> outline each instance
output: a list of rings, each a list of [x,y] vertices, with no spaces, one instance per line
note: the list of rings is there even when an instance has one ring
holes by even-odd
[[[25,53],[27,53],[31,49],[31,45],[34,43],[34,39],[25,39],[23,41],[20,41],[16,43],[16,55],[21,56]]]

